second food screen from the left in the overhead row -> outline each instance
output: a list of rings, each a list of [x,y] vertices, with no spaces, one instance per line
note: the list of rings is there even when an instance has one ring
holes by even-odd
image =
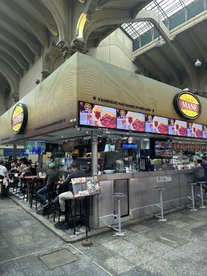
[[[145,115],[143,113],[117,109],[117,129],[145,131]]]

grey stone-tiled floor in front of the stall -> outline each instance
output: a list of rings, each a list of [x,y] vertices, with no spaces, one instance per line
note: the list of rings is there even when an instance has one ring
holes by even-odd
[[[167,222],[135,219],[124,224],[124,237],[113,237],[113,231],[92,235],[90,247],[64,242],[49,230],[50,221],[45,226],[28,212],[9,199],[0,201],[3,276],[207,275],[207,208],[169,213]],[[77,261],[53,270],[41,262],[40,256],[62,249],[74,254]]]

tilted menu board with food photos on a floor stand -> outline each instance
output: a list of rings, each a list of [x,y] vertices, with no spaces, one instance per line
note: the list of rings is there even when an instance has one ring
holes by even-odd
[[[98,177],[72,178],[72,190],[74,197],[86,197],[88,195],[99,195],[101,192]]]

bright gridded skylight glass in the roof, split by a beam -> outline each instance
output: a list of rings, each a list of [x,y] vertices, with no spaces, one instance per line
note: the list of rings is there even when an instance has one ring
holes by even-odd
[[[195,1],[197,0],[153,0],[144,8],[144,10],[153,10],[160,20],[164,21]],[[153,25],[150,22],[143,21],[124,23],[121,28],[123,28],[132,39],[136,39],[137,37],[140,37],[141,34],[144,34],[153,28]]]

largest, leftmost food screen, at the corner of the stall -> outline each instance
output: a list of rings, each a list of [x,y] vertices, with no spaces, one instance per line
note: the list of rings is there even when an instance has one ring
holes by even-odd
[[[79,124],[101,128],[117,128],[117,109],[79,102]]]

